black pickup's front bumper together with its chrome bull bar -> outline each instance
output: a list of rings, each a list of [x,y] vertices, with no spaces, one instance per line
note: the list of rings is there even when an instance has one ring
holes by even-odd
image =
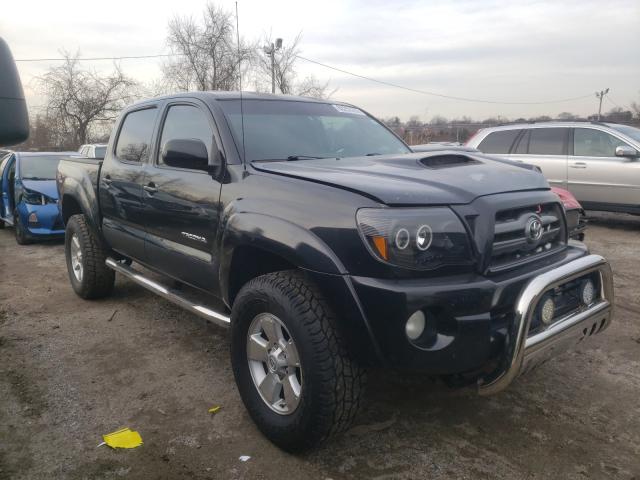
[[[602,301],[569,313],[559,312],[546,330],[531,325],[546,292],[558,282],[585,275],[600,278]],[[489,277],[350,277],[350,282],[383,364],[426,374],[480,378],[482,390],[487,392],[503,388],[503,376],[510,382],[520,371],[538,363],[537,359],[557,351],[554,345],[575,340],[572,335],[587,326],[589,334],[592,329],[593,333],[604,330],[612,314],[611,270],[602,257],[589,255],[579,243],[572,243],[560,258],[538,262],[533,269]],[[433,328],[430,341],[420,345],[408,340],[404,328],[416,310],[426,314]]]

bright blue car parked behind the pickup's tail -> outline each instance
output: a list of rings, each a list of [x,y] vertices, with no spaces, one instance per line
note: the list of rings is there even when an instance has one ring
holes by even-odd
[[[56,170],[76,152],[11,152],[0,160],[0,228],[14,227],[20,245],[64,235]]]

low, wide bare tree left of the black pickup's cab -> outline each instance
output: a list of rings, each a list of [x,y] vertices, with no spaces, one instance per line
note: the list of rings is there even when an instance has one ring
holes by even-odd
[[[62,65],[49,69],[38,82],[47,96],[46,118],[56,119],[56,135],[72,138],[76,145],[110,124],[136,97],[137,83],[118,65],[100,75],[80,66],[79,54],[62,52]]]

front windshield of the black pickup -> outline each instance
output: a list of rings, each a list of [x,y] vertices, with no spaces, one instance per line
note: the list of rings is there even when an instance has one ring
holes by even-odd
[[[242,151],[239,100],[221,105]],[[278,100],[244,100],[244,148],[248,161],[313,160],[411,150],[362,110],[343,105]]]

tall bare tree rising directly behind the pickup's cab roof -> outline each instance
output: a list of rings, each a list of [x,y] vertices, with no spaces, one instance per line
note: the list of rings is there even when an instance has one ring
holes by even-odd
[[[240,68],[251,63],[255,46],[237,45],[235,17],[222,7],[207,4],[202,22],[175,17],[169,22],[167,43],[176,55],[163,66],[166,89],[238,89]]]

